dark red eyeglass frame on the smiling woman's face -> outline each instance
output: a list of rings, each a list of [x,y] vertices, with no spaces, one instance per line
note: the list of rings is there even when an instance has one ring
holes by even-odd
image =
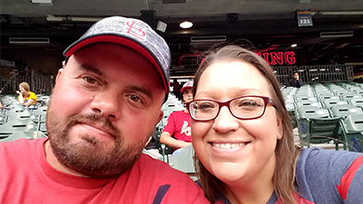
[[[236,99],[240,99],[240,98],[248,98],[248,97],[257,97],[257,98],[261,98],[263,99],[263,102],[264,102],[264,106],[263,106],[263,112],[260,114],[260,116],[257,116],[257,117],[253,117],[253,118],[240,118],[238,116],[236,116],[232,111],[231,111],[231,107],[230,107],[230,104],[233,100],[236,100]],[[199,101],[209,101],[209,102],[216,102],[218,104],[218,107],[219,107],[219,110],[217,112],[217,114],[211,118],[211,119],[208,119],[208,120],[203,120],[203,119],[196,119],[192,114],[191,114],[191,103],[192,102],[199,102]],[[221,107],[223,106],[227,106],[228,110],[231,112],[231,115],[233,115],[233,117],[237,118],[237,119],[240,119],[240,120],[253,120],[253,119],[258,119],[260,117],[262,117],[263,114],[265,114],[266,112],[266,107],[268,105],[272,105],[272,107],[274,107],[275,109],[277,109],[276,107],[276,104],[275,102],[272,101],[272,99],[270,99],[270,97],[267,97],[267,96],[260,96],[260,95],[243,95],[243,96],[238,96],[238,97],[235,97],[235,98],[232,98],[231,100],[228,100],[228,101],[225,101],[225,102],[219,102],[219,101],[216,101],[216,100],[212,100],[212,99],[196,99],[196,100],[193,100],[191,102],[187,102],[186,103],[186,108],[188,109],[188,112],[190,112],[190,115],[191,115],[191,118],[194,120],[194,121],[212,121],[212,120],[215,120],[218,115],[220,115],[220,112],[221,112]]]

